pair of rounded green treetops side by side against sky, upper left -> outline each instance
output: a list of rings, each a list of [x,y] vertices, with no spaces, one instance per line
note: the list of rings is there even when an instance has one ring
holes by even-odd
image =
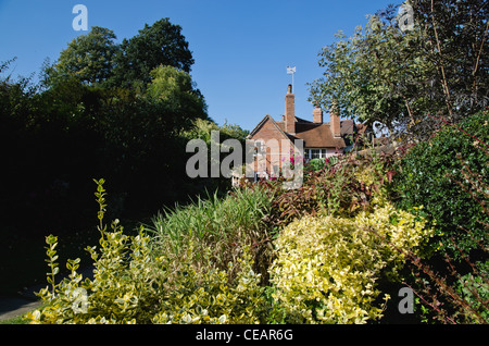
[[[189,73],[195,62],[181,27],[168,18],[146,24],[122,44],[115,40],[111,29],[93,26],[88,34],[73,39],[54,64],[45,67],[43,83],[49,87],[75,79],[87,85],[143,90],[154,69],[164,65]]]

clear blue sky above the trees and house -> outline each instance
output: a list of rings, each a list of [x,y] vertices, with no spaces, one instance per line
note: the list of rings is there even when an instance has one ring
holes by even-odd
[[[252,129],[265,114],[279,119],[291,76],[296,114],[312,120],[306,83],[321,77],[321,48],[343,30],[351,35],[389,3],[401,0],[0,0],[0,61],[17,57],[13,75],[38,73],[46,58],[76,36],[75,4],[88,8],[88,25],[110,28],[117,41],[145,24],[170,17],[183,27],[196,64],[191,75],[211,118]],[[328,121],[328,114],[325,114]]]

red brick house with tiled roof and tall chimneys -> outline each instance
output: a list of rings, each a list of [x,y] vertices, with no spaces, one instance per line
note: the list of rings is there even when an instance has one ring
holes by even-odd
[[[325,123],[323,111],[317,107],[313,110],[312,121],[301,119],[296,116],[294,103],[294,94],[289,85],[281,120],[275,121],[267,114],[249,134],[248,139],[256,148],[254,180],[277,174],[284,161],[281,148],[284,139],[290,145],[293,145],[296,139],[302,139],[303,156],[308,161],[316,158],[325,159],[350,150],[353,146],[353,136],[364,129],[364,126],[356,126],[353,120],[340,120],[335,112],[330,113],[330,122]],[[264,158],[260,160],[261,163],[258,162],[260,153]]]

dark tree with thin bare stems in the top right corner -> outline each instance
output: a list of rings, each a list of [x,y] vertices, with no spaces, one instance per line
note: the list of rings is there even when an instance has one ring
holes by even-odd
[[[413,0],[413,9],[446,114],[456,120],[484,110],[489,104],[488,2]]]

